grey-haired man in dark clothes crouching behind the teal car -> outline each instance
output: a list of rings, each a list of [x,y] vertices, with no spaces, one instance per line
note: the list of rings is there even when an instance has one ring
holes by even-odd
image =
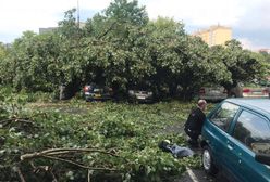
[[[201,128],[206,120],[205,110],[207,107],[207,102],[205,100],[199,100],[197,108],[193,109],[185,122],[185,133],[191,138],[188,143],[192,146],[198,146],[198,136],[201,134]]]

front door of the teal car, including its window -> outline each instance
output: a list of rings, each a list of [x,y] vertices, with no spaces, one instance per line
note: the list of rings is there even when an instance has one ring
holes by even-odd
[[[224,160],[228,161],[228,171],[237,181],[270,181],[270,167],[255,160],[254,147],[256,143],[269,144],[269,120],[258,113],[243,109],[233,123],[231,136],[226,140]],[[267,151],[269,153],[269,148]]]

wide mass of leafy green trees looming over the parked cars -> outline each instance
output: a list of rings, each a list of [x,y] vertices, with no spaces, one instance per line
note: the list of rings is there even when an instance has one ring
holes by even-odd
[[[120,92],[143,87],[160,96],[181,91],[191,99],[208,82],[230,88],[268,75],[267,55],[243,50],[236,40],[209,48],[188,36],[182,22],[149,22],[136,0],[114,0],[85,27],[78,26],[75,12],[65,12],[53,32],[24,32],[8,54],[0,47],[1,82],[50,92],[65,84],[71,94],[96,82]]]

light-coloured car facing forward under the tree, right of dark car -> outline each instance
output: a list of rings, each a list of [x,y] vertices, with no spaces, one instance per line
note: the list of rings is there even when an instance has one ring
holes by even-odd
[[[154,101],[154,93],[147,90],[128,90],[128,100],[131,102],[149,103]]]

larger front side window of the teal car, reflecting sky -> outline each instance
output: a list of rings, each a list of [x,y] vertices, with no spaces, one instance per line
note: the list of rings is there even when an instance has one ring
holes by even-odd
[[[249,112],[242,112],[233,136],[256,153],[270,154],[269,121]]]

